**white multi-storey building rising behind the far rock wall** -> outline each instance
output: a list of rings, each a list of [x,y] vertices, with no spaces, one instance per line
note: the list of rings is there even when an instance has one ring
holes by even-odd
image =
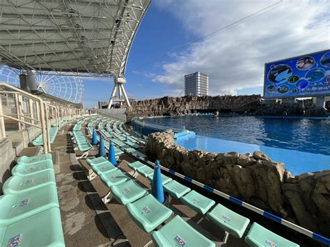
[[[201,72],[184,75],[184,95],[209,95],[209,76]]]

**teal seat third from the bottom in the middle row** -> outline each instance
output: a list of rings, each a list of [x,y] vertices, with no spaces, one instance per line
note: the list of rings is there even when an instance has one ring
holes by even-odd
[[[133,180],[128,180],[123,184],[113,185],[110,189],[113,197],[123,205],[127,205],[129,202],[134,202],[135,200],[138,200],[139,198],[148,194],[146,189],[143,189]]]

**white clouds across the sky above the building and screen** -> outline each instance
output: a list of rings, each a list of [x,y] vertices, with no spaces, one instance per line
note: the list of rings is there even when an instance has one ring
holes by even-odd
[[[265,8],[276,1],[163,0],[168,11],[196,39]],[[152,81],[183,90],[184,74],[210,76],[212,95],[262,86],[264,64],[330,48],[330,2],[282,1],[273,10],[191,45],[164,63]],[[168,92],[171,93],[171,92]]]

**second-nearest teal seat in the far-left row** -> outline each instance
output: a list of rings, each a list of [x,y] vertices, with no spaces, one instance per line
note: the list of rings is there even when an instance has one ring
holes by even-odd
[[[0,227],[3,227],[51,207],[59,207],[56,185],[0,196],[0,205]]]

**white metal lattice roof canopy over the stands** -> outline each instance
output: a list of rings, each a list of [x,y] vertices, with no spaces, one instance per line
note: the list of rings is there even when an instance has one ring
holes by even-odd
[[[1,0],[0,63],[58,75],[123,77],[150,0]]]

